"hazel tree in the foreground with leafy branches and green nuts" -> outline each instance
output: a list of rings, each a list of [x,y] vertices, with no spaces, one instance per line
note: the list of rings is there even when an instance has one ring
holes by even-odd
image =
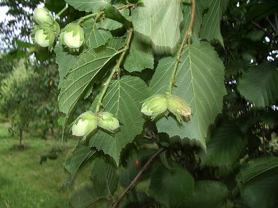
[[[223,97],[228,97],[224,64],[217,52],[226,47],[220,24],[229,0],[66,3],[56,16],[45,7],[35,10],[32,38],[56,53],[63,113],[59,124],[63,132],[70,127],[77,140],[65,161],[70,181],[81,164],[93,158],[91,180],[72,192],[70,204],[83,208],[104,199],[113,208],[135,202],[167,208],[217,207],[227,198],[226,185],[212,178],[195,181],[198,174],[187,170],[187,158],[198,168],[203,163],[233,164],[246,147],[237,125],[216,119]],[[58,17],[68,7],[87,13],[60,29]],[[146,84],[142,74],[147,70],[152,76]],[[277,71],[270,70],[276,79]],[[242,79],[238,90],[253,100],[255,93],[244,91],[249,81]],[[265,87],[264,98],[275,95],[270,99],[273,103],[278,94],[272,84]],[[91,106],[72,118],[82,99],[91,99]],[[235,138],[230,146],[224,141],[229,135]],[[266,160],[273,161],[270,169],[277,165],[275,158]],[[256,161],[256,168],[266,160]],[[140,190],[142,199],[135,184],[151,163],[155,164],[147,176],[148,189]],[[238,175],[244,200],[249,180],[245,177],[252,168],[251,162],[250,170],[243,168]]]

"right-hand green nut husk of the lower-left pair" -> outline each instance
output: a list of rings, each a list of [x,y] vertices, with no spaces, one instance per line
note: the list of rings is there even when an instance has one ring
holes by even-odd
[[[114,133],[120,127],[120,123],[112,113],[103,112],[99,114],[98,126]]]

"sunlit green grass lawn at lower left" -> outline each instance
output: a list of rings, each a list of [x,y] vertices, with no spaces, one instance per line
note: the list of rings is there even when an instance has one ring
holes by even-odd
[[[42,165],[40,156],[59,147],[59,140],[27,138],[23,151],[11,150],[18,143],[18,138],[8,135],[8,125],[0,124],[0,208],[70,208],[73,188],[61,187],[67,178],[63,162],[74,141],[65,144],[56,160],[48,159]],[[75,184],[86,179],[88,170],[81,171]]]

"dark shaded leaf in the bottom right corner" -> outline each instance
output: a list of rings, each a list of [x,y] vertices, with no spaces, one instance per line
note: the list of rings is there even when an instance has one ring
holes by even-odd
[[[273,208],[277,203],[278,159],[253,159],[237,175],[243,202],[250,208]]]

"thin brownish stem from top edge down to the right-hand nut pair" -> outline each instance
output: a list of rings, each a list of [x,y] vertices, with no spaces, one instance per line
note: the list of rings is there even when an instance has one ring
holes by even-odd
[[[184,48],[188,38],[191,38],[191,35],[192,35],[192,28],[193,28],[193,24],[194,24],[194,20],[195,20],[195,9],[196,9],[195,0],[192,0],[192,5],[191,6],[192,6],[192,8],[191,8],[191,20],[190,20],[190,24],[189,24],[188,29],[185,31],[184,39],[183,39],[182,45],[179,49],[178,56],[177,56],[177,59],[176,59],[175,68],[173,70],[171,79],[169,81],[169,86],[168,86],[168,90],[167,90],[167,93],[169,93],[169,94],[172,93],[173,83],[175,81],[175,76],[176,76],[176,72],[177,72],[179,63],[181,62],[181,55],[182,55],[183,48]]]

